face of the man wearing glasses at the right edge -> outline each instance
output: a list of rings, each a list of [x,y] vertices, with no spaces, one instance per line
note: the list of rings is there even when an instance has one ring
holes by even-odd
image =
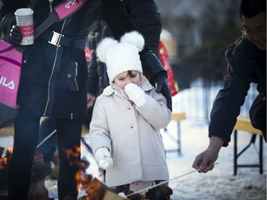
[[[261,13],[251,18],[241,16],[241,20],[246,38],[261,51],[266,51],[266,14]]]

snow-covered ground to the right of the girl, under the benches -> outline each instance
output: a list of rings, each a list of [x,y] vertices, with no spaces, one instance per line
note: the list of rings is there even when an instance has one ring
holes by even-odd
[[[177,131],[176,122],[169,124],[171,134]],[[207,124],[205,121],[187,119],[181,122],[182,156],[176,152],[167,153],[169,173],[171,179],[194,172],[192,162],[194,158],[206,149],[209,142],[207,138]],[[166,149],[173,149],[176,142],[162,132]],[[239,151],[246,147],[251,134],[240,132]],[[234,176],[234,142],[229,147],[222,148],[217,159],[218,164],[206,174],[194,172],[187,176],[174,179],[169,186],[174,190],[172,200],[182,199],[266,199],[266,143],[263,142],[263,174],[258,168],[238,168]],[[256,144],[251,145],[239,157],[239,164],[256,164],[258,162],[258,138]]]

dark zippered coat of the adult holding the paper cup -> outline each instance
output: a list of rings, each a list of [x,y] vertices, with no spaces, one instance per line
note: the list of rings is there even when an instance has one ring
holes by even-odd
[[[56,6],[59,0],[53,0]],[[49,31],[74,39],[85,39],[100,18],[99,0],[88,0],[73,16],[54,23]],[[4,33],[15,23],[16,9],[27,7],[30,0],[4,1],[0,17]],[[32,7],[35,28],[46,19],[49,2],[36,0]],[[88,67],[84,49],[57,47],[41,36],[23,53],[18,103],[37,115],[81,119],[87,115]]]

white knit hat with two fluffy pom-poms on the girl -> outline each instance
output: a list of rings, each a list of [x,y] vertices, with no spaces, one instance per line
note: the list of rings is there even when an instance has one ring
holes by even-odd
[[[125,33],[120,42],[113,38],[104,38],[96,49],[101,62],[107,65],[108,78],[114,78],[127,70],[137,70],[142,73],[139,52],[145,44],[145,39],[137,31]]]

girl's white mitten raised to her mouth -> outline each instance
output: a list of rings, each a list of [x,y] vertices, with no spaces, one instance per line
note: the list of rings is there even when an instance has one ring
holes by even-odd
[[[128,95],[137,107],[142,107],[145,104],[145,91],[135,83],[125,85],[125,93]]]

